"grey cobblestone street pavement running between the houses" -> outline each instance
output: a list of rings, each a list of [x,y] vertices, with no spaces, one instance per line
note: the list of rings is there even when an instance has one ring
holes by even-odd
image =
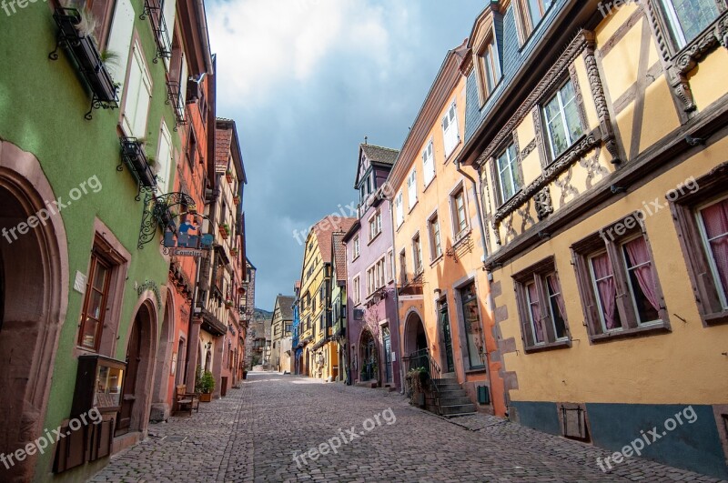
[[[335,454],[294,459],[342,436]],[[609,454],[498,418],[448,421],[381,389],[251,373],[192,418],[150,425],[91,481],[717,481],[640,458],[603,473]]]

